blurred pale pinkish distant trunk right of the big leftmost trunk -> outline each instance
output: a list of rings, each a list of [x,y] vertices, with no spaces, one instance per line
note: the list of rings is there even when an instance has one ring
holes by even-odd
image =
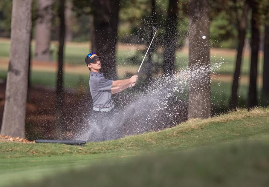
[[[38,0],[34,58],[40,61],[51,61],[51,20],[53,18],[52,5],[54,0]]]

